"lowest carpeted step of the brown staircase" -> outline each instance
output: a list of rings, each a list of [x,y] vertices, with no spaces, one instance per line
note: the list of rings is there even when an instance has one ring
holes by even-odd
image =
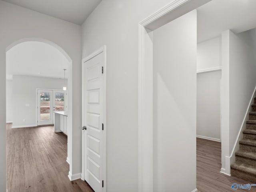
[[[256,167],[245,163],[234,162],[231,164],[231,175],[256,183]]]

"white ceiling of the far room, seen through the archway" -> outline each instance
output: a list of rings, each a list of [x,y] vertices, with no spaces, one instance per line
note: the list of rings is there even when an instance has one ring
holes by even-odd
[[[7,79],[12,75],[64,78],[63,69],[68,69],[66,57],[43,42],[24,42],[6,52]]]

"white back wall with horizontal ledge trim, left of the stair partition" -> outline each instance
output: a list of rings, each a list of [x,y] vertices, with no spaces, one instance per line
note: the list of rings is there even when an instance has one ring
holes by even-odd
[[[196,134],[220,141],[221,37],[197,44]]]

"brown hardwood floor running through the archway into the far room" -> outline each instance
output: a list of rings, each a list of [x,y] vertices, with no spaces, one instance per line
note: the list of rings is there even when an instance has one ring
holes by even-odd
[[[53,126],[6,126],[8,192],[93,192],[82,181],[70,182],[67,137]]]

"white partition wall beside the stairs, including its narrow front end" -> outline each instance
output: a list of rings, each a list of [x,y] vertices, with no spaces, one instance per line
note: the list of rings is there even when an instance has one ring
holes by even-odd
[[[222,32],[222,172],[230,174],[236,144],[256,85],[255,30]]]

